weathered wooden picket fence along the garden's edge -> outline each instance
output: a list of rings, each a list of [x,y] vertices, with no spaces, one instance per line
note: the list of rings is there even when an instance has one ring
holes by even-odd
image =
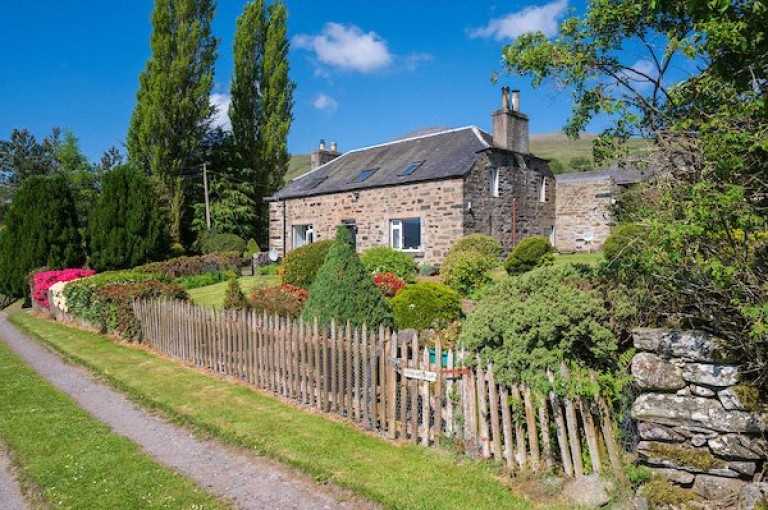
[[[134,312],[143,342],[161,354],[389,439],[457,442],[513,472],[548,468],[573,476],[609,468],[623,476],[604,398],[566,399],[499,385],[479,357],[469,368],[469,353],[439,343],[431,350],[423,335],[348,324],[325,330],[317,321],[183,301],[139,300]],[[568,377],[564,366],[561,376]]]

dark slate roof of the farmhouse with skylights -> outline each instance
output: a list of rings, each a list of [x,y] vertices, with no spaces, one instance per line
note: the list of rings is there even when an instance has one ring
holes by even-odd
[[[493,146],[493,136],[474,126],[395,140],[355,149],[289,182],[270,200],[326,195],[381,186],[466,176],[477,153]],[[410,163],[424,161],[411,175]],[[359,172],[376,169],[360,182]]]

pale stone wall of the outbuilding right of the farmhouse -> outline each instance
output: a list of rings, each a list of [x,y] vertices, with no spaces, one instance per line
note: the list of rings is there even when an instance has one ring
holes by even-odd
[[[614,225],[612,199],[617,191],[613,179],[557,183],[555,248],[561,253],[596,251]],[[590,231],[593,239],[584,239]]]

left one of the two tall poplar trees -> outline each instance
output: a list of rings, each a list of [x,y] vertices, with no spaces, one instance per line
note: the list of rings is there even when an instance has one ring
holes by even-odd
[[[157,176],[170,215],[171,236],[181,242],[189,186],[210,123],[218,41],[211,31],[213,0],[164,0],[152,12],[152,57],[139,77],[128,130],[128,155]]]

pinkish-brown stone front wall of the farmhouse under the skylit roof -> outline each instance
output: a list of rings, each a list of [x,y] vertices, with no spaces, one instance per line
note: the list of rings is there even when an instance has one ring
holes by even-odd
[[[439,262],[451,243],[463,234],[463,204],[461,179],[272,202],[269,247],[281,256],[285,250],[291,251],[294,225],[313,225],[315,240],[319,241],[333,239],[338,225],[353,220],[357,225],[357,251],[361,252],[390,244],[391,220],[420,218],[423,251],[413,255],[418,260]]]

